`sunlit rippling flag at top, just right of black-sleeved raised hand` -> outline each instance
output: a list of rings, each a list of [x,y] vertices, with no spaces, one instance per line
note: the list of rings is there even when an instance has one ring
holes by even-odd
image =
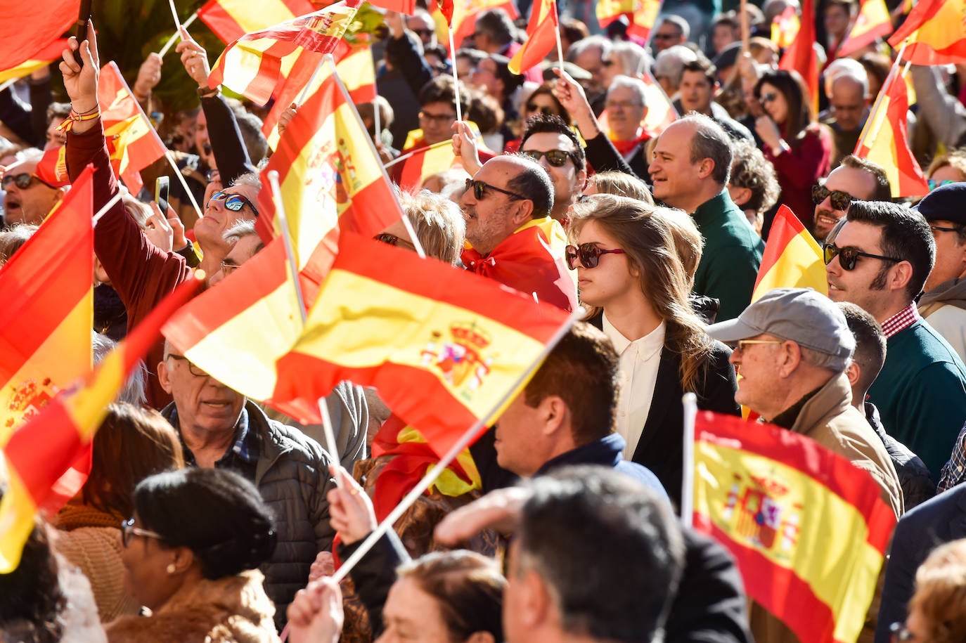
[[[245,34],[218,57],[208,77],[209,86],[224,85],[260,105],[292,78],[301,80],[300,90],[323,56],[342,42],[360,2],[343,0],[313,14]],[[281,102],[281,97],[276,98]]]

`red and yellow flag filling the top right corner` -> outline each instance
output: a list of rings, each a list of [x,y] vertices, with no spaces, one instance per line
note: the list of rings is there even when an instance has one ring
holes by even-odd
[[[907,42],[902,59],[915,65],[966,63],[966,0],[921,0],[889,44],[899,49]]]

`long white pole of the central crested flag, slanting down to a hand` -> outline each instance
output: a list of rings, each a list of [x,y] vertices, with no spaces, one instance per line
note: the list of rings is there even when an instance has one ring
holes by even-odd
[[[342,564],[342,567],[336,570],[335,574],[332,576],[332,580],[335,582],[341,582],[342,579],[352,571],[359,560],[366,555],[366,553],[368,553],[369,549],[376,544],[376,541],[382,538],[385,532],[387,532],[389,529],[392,529],[392,525],[396,523],[396,520],[402,517],[406,510],[412,506],[412,503],[414,503],[416,499],[422,495],[423,491],[429,489],[430,485],[437,481],[437,479],[442,475],[442,472],[446,470],[446,466],[448,466],[451,461],[456,460],[456,457],[463,453],[463,451],[469,446],[469,443],[473,441],[473,438],[476,437],[476,433],[479,433],[481,429],[488,426],[492,416],[496,415],[497,411],[510,401],[511,396],[518,393],[518,389],[523,386],[524,382],[526,382],[527,379],[533,375],[541,364],[543,364],[544,358],[550,354],[550,351],[554,349],[557,342],[563,339],[563,336],[567,334],[567,332],[570,330],[570,327],[574,325],[574,322],[577,322],[579,319],[581,319],[585,312],[586,311],[578,306],[577,310],[575,310],[570,317],[567,318],[567,321],[563,322],[560,327],[557,328],[557,331],[554,333],[554,337],[552,337],[550,342],[547,343],[547,346],[540,351],[540,354],[533,361],[533,363],[530,364],[529,368],[527,368],[526,371],[517,378],[513,386],[509,388],[505,394],[503,394],[503,396],[497,401],[497,404],[493,406],[493,409],[487,413],[486,417],[480,418],[473,424],[473,426],[469,427],[467,433],[463,433],[463,436],[460,437],[456,444],[454,444],[449,451],[446,452],[446,454],[440,459],[440,462],[430,467],[429,471],[426,472],[426,475],[423,476],[423,479],[419,481],[419,484],[417,484],[412,491],[406,494],[406,497],[404,497],[399,504],[396,505],[396,508],[393,509],[388,516],[384,517],[383,521],[379,523],[379,526],[376,527],[375,531],[366,537],[362,544],[358,546],[355,552],[353,552],[353,555]]]

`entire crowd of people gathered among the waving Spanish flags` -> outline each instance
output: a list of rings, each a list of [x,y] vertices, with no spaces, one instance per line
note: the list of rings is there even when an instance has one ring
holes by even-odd
[[[438,461],[419,428],[343,381],[325,400],[333,449],[160,338],[83,489],[0,574],[0,640],[797,641],[725,546],[678,519],[685,393],[874,481],[897,526],[860,640],[966,640],[966,68],[911,66],[908,143],[929,191],[899,199],[891,168],[854,154],[895,57],[883,42],[838,56],[856,0],[819,3],[817,97],[770,40],[795,0],[744,14],[666,0],[646,41],[571,4],[564,60],[520,75],[526,20],[503,8],[452,54],[421,3],[387,12],[378,98],[356,105],[392,181],[412,152],[454,157],[397,189],[411,225],[377,240],[580,316],[495,426],[337,582]],[[210,88],[212,52],[185,30],[200,105],[159,126],[180,176],[163,159],[131,193],[98,118],[110,52],[88,33],[0,91],[0,264],[93,166],[99,358],[192,275],[220,288],[263,250],[270,149],[266,108]],[[166,69],[150,54],[128,79],[146,113],[163,110]],[[652,83],[679,115],[659,130]],[[40,168],[58,148],[70,181]],[[827,294],[753,300],[782,205],[821,247]]]

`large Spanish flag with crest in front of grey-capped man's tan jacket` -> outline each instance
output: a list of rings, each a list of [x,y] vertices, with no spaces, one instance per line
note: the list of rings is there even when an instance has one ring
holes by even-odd
[[[895,515],[867,471],[810,438],[698,411],[694,525],[802,643],[852,643]]]

